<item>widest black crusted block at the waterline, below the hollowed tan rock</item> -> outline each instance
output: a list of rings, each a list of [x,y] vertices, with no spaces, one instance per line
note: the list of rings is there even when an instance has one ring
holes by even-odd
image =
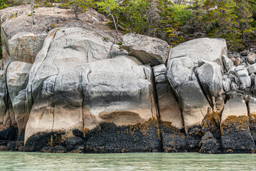
[[[101,123],[86,133],[87,153],[160,152],[157,120],[129,126]]]

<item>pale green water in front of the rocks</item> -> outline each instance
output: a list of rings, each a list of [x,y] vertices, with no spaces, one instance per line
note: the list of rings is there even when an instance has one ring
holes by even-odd
[[[256,155],[0,152],[0,170],[256,170]]]

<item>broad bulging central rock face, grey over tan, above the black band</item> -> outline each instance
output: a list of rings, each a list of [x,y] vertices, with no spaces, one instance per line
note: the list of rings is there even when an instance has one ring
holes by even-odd
[[[53,57],[45,61],[48,58]],[[25,142],[39,132],[61,131],[72,137],[73,130],[88,133],[100,123],[136,125],[156,119],[152,70],[136,58],[118,56],[68,70],[56,66],[59,72],[47,78],[45,72],[37,72],[38,78],[46,79],[31,109]]]

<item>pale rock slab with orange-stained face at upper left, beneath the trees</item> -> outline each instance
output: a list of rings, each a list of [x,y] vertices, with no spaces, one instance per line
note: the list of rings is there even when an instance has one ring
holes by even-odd
[[[41,50],[44,38],[53,28],[63,26],[78,26],[92,25],[94,28],[99,27],[104,29],[108,35],[113,35],[104,24],[107,23],[107,18],[98,14],[93,9],[88,9],[87,14],[79,14],[79,21],[74,19],[74,13],[69,9],[39,7],[35,11],[35,24],[32,24],[30,6],[14,6],[0,11],[1,16],[1,38],[3,45],[6,47],[4,61],[23,61],[26,63],[34,63],[37,53]],[[10,17],[16,14],[16,17]],[[93,17],[92,17],[93,16]],[[100,31],[98,29],[99,32]],[[106,40],[110,36],[105,36]],[[118,42],[119,38],[116,38]]]

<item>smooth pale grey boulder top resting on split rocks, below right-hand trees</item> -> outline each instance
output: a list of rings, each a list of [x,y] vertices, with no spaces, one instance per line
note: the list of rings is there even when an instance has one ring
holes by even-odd
[[[170,58],[187,57],[194,63],[205,60],[222,66],[222,56],[227,56],[227,44],[224,39],[197,38],[172,48]]]

